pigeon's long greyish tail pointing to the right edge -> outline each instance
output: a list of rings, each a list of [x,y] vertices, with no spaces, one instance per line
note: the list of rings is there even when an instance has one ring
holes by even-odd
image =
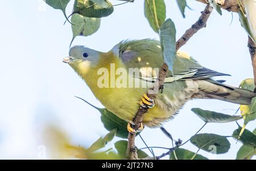
[[[250,105],[256,93],[247,89],[236,88],[222,84],[212,79],[195,80],[199,86],[199,93],[195,98],[218,99],[241,105]]]

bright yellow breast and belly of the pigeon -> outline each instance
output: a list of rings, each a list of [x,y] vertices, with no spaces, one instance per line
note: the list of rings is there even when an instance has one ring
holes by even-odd
[[[86,71],[86,74],[82,75],[82,79],[85,80],[94,96],[100,100],[106,109],[116,114],[119,118],[132,121],[139,108],[139,100],[143,93],[147,92],[148,88],[134,88],[128,86],[118,88],[117,82],[120,76],[116,74],[118,69],[126,69],[121,60],[118,57],[114,57],[113,53],[102,53],[96,66],[86,67],[88,71]],[[102,79],[102,76],[104,76],[103,71],[108,71],[108,74],[105,75],[107,80]],[[125,76],[127,79],[130,78],[129,74]],[[105,87],[102,86],[102,84],[104,84]],[[164,111],[156,105],[154,108],[149,109],[148,113],[144,115],[143,122],[144,125],[147,126],[156,126],[157,123],[170,117],[169,115],[170,112],[167,110]]]

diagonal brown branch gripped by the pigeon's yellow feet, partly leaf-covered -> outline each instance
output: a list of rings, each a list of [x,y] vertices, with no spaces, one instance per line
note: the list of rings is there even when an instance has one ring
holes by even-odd
[[[178,50],[181,46],[183,46],[199,29],[204,28],[206,26],[207,20],[212,12],[212,7],[207,5],[203,12],[201,12],[201,16],[199,20],[192,25],[191,28],[189,28],[185,34],[176,42],[176,50]],[[186,38],[186,40],[183,39],[183,37]],[[168,74],[168,66],[166,63],[163,64],[162,68],[159,71],[158,79],[156,80],[154,87],[150,88],[148,92],[151,92],[152,90],[160,90],[162,93],[163,86],[164,86],[164,79],[166,78]],[[156,93],[158,91],[155,91]],[[150,99],[154,99],[156,93],[147,93],[147,96],[150,97]],[[138,129],[138,127],[141,125],[143,121],[143,115],[147,112],[148,109],[139,108],[138,112],[135,114],[135,117],[133,119],[134,122],[134,129]],[[169,152],[170,153],[170,152]],[[129,133],[128,135],[128,144],[127,144],[127,152],[126,155],[130,159],[138,159],[137,155],[137,149],[135,146],[135,134]],[[160,159],[160,158],[159,158]]]

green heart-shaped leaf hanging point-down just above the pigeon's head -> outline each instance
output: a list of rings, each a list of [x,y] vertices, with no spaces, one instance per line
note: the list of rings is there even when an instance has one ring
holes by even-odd
[[[73,23],[73,41],[76,36],[89,36],[95,33],[100,28],[101,19],[88,18],[80,14],[74,14],[72,15],[71,22]]]

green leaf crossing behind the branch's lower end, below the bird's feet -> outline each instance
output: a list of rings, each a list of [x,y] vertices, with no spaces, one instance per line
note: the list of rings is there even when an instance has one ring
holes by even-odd
[[[115,149],[117,149],[118,154],[122,156],[124,159],[127,159],[127,156],[126,156],[127,144],[128,142],[126,140],[119,140],[118,142],[115,143]],[[139,149],[137,151],[137,154],[139,159],[148,157],[147,153]]]

